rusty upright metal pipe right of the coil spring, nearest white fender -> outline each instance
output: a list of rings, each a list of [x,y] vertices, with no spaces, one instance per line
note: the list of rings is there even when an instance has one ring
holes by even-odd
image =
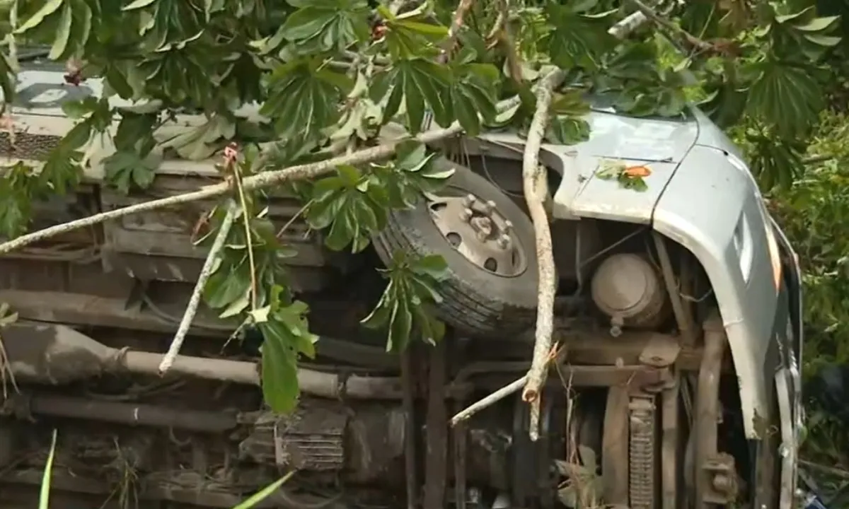
[[[727,338],[722,323],[714,318],[705,322],[705,355],[699,370],[695,411],[695,503],[700,509],[711,504],[714,472],[711,465],[717,456],[717,425],[719,423],[719,377],[722,355]]]

